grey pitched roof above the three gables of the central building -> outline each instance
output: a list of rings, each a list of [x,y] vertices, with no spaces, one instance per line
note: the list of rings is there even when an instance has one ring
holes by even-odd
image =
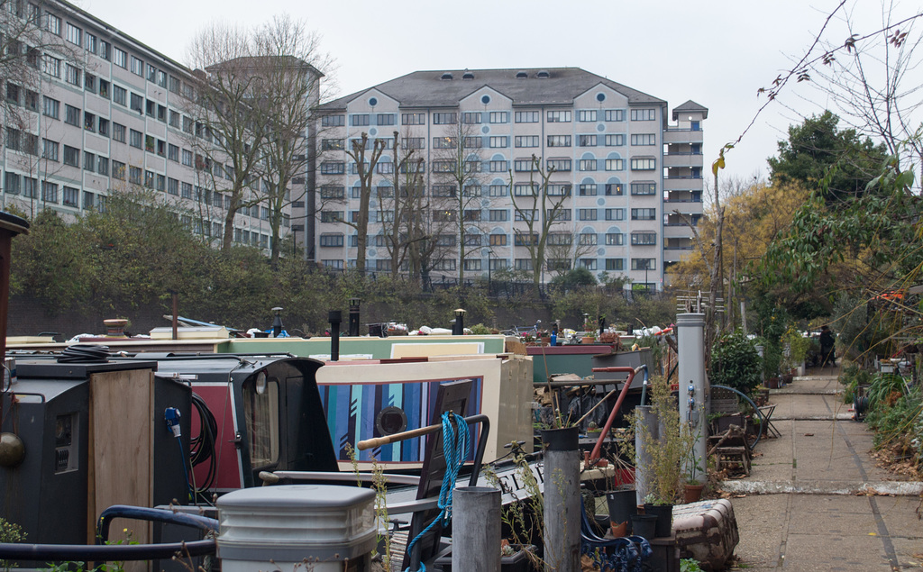
[[[524,78],[517,77],[523,73]],[[547,74],[547,77],[540,77],[540,74]],[[450,75],[451,79],[442,79],[446,75]],[[473,77],[465,79],[463,76]],[[378,89],[399,101],[402,108],[455,107],[459,101],[485,86],[509,97],[513,105],[566,105],[572,104],[574,98],[598,84],[622,93],[629,99],[629,103],[666,104],[664,100],[579,67],[549,67],[416,71],[325,103],[321,110],[345,109],[350,101],[369,89]]]

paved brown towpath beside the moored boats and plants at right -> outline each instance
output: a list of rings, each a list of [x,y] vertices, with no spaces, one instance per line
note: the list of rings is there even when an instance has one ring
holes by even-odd
[[[852,421],[837,374],[814,369],[773,389],[782,436],[760,442],[748,478],[723,484],[737,495],[740,569],[923,567],[923,483],[876,466],[872,435]]]

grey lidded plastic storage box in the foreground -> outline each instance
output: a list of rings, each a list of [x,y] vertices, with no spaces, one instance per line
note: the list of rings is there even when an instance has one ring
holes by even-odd
[[[366,571],[376,546],[375,492],[293,484],[241,489],[218,499],[223,572]]]

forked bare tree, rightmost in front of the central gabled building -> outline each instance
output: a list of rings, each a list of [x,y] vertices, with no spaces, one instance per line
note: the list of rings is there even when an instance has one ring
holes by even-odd
[[[562,222],[564,204],[572,193],[569,184],[551,183],[554,173],[554,167],[543,168],[542,160],[535,155],[532,156],[528,184],[515,185],[512,172],[509,173],[513,210],[525,227],[514,227],[513,232],[517,245],[525,246],[532,259],[532,280],[536,289],[542,283],[542,269],[547,261],[545,249],[551,228]]]

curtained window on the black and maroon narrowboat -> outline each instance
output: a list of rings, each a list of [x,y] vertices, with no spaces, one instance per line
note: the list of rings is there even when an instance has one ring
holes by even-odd
[[[279,380],[253,376],[244,382],[244,423],[254,469],[279,461]]]

